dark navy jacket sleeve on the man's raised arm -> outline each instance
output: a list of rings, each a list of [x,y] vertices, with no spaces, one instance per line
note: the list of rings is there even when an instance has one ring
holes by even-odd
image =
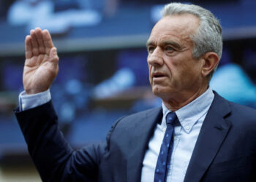
[[[42,181],[97,181],[100,158],[108,149],[104,143],[74,151],[59,130],[51,101],[15,115]]]

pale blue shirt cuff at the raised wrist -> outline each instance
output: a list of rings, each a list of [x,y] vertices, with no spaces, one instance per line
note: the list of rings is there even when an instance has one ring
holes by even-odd
[[[44,103],[48,103],[50,99],[50,89],[45,90],[45,92],[39,92],[33,95],[26,95],[26,92],[23,91],[19,95],[20,111],[26,111],[29,108],[41,106]]]

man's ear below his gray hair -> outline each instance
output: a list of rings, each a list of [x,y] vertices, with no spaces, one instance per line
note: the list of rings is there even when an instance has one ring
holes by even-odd
[[[219,56],[215,52],[206,52],[206,54],[203,55],[203,60],[202,74],[203,76],[208,76],[218,65]]]

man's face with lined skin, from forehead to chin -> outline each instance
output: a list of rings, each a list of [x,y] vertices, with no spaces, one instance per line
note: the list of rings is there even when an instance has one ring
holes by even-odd
[[[193,35],[199,26],[194,15],[163,17],[154,26],[147,42],[149,81],[154,95],[163,100],[202,87],[202,61],[192,58]]]

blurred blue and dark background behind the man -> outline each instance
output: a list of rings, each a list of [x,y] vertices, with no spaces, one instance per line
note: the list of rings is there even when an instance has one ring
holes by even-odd
[[[81,146],[105,140],[121,116],[161,105],[151,93],[146,40],[164,0],[0,0],[0,181],[40,181],[12,110],[23,91],[24,39],[48,29],[59,75],[50,88],[62,132]],[[256,108],[256,1],[194,0],[223,27],[211,87]]]

